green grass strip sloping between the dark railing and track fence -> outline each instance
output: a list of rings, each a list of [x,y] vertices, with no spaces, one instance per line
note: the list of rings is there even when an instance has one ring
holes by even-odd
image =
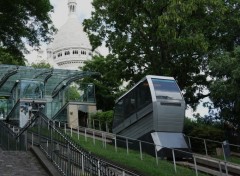
[[[68,133],[68,135],[70,134]],[[132,170],[138,171],[146,176],[195,175],[195,170],[181,166],[177,166],[177,171],[175,172],[174,165],[166,160],[158,159],[157,164],[156,158],[146,153],[143,153],[143,160],[141,160],[139,151],[129,150],[129,153],[127,154],[126,149],[117,148],[116,152],[113,145],[107,144],[106,148],[104,148],[102,141],[99,140],[95,140],[94,145],[93,139],[88,138],[87,141],[85,141],[83,136],[80,136],[78,139],[77,134],[74,133],[72,139],[89,152],[124,167],[131,168]],[[199,173],[199,175],[201,176],[204,174]]]

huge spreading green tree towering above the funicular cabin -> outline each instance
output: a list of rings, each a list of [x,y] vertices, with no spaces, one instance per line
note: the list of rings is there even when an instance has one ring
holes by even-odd
[[[106,42],[118,73],[133,83],[146,74],[177,79],[192,107],[209,94],[208,62],[239,42],[240,5],[234,1],[94,0],[84,21],[93,48]]]

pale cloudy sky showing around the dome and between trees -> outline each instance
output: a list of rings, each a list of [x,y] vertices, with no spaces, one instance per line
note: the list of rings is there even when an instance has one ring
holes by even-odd
[[[77,1],[77,15],[80,22],[86,18],[90,18],[91,12],[94,10],[91,2],[92,0],[76,0]],[[68,18],[68,0],[50,0],[50,3],[54,7],[54,12],[51,14],[53,24],[57,29],[59,29]],[[32,51],[30,54],[25,55],[28,60],[28,63],[31,64],[39,57],[46,58],[46,44],[42,45],[42,55],[39,55],[38,52]],[[99,51],[102,55],[107,54],[107,49],[105,47],[100,47]],[[207,99],[205,99],[207,101]],[[200,115],[208,114],[208,109],[202,106],[202,103],[197,108],[197,112],[193,112],[192,109],[186,110],[186,116],[192,117],[193,113],[199,113]]]

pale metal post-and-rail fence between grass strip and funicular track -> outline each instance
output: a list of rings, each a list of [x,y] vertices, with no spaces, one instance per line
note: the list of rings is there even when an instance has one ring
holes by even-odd
[[[96,145],[97,147],[101,147],[103,149],[106,149],[110,151],[110,146],[106,146],[108,143],[111,143],[111,146],[113,146],[114,152],[116,154],[119,152],[118,150],[124,150],[126,151],[126,157],[129,156],[129,153],[133,152],[132,150],[135,150],[139,153],[139,160],[144,160],[145,158],[145,153],[146,153],[146,148],[152,148],[153,152],[152,155],[155,157],[155,163],[157,166],[160,166],[161,159],[159,157],[158,152],[156,151],[157,147],[164,147],[164,146],[157,146],[153,143],[146,142],[146,141],[141,141],[141,140],[136,140],[132,138],[127,138],[121,135],[116,135],[112,134],[109,132],[104,132],[96,129],[91,129],[91,128],[85,128],[85,127],[77,127],[76,129],[74,128],[68,128],[69,124],[62,123],[62,122],[53,122],[53,125],[56,127],[63,127],[62,131],[68,134],[70,137],[74,137],[76,140],[79,140],[82,142],[91,142],[92,145]],[[98,141],[98,143],[97,143]],[[132,144],[135,144],[132,145]],[[221,143],[221,142],[219,142]],[[137,147],[136,147],[137,145]],[[240,146],[238,146],[240,147]],[[124,149],[123,149],[124,148]],[[166,148],[166,147],[164,147]],[[210,155],[202,155],[202,154],[196,154],[193,152],[187,152],[187,151],[182,151],[179,149],[173,149],[173,148],[168,148],[169,152],[172,154],[171,161],[173,163],[173,170],[175,173],[179,173],[181,170],[178,165],[183,165],[181,162],[178,161],[179,154],[184,154],[185,156],[191,156],[191,160],[187,160],[189,163],[188,165],[184,165],[188,168],[190,168],[193,173],[190,175],[200,175],[200,173],[205,172],[207,174],[211,173],[216,173],[216,174],[222,174],[222,175],[240,175],[240,166],[237,164],[232,163],[231,161],[212,157]],[[121,153],[122,154],[122,153]],[[202,159],[204,158],[206,162],[211,161],[212,168],[209,169],[208,165],[204,165],[201,163]],[[147,158],[146,158],[147,159]],[[160,160],[159,160],[160,159]],[[186,158],[187,159],[187,158]]]

